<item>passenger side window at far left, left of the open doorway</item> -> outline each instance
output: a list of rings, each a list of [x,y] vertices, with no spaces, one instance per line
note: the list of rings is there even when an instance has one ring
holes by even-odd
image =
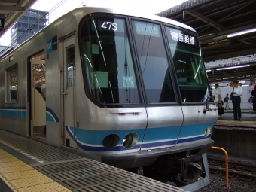
[[[18,101],[18,65],[6,69],[6,101],[16,103]]]

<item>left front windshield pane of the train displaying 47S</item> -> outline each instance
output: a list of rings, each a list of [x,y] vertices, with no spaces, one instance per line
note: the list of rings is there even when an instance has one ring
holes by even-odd
[[[82,23],[80,35],[90,97],[111,105],[141,103],[125,20],[91,17]]]

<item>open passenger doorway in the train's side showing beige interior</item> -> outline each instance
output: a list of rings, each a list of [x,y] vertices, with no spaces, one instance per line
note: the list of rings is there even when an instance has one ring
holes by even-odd
[[[45,51],[30,58],[31,108],[30,135],[46,140]]]

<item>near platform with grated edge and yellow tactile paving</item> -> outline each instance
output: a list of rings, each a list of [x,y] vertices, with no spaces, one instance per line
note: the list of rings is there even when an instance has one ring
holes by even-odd
[[[187,191],[0,129],[0,189]]]

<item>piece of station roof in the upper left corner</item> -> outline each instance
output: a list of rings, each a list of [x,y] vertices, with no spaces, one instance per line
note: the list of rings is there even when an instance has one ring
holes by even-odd
[[[36,1],[0,0],[0,14],[5,15],[5,27],[0,31],[0,38]]]

